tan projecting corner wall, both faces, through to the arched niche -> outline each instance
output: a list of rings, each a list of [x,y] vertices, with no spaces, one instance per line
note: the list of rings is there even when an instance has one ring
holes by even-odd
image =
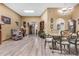
[[[47,10],[45,10],[45,12],[41,15],[41,19],[45,22],[45,32],[47,34],[54,34],[55,32],[57,32],[55,29],[53,29],[53,32],[51,31],[51,28],[50,28],[50,20],[51,18],[53,18],[53,22],[54,22],[54,27],[55,24],[56,24],[56,20],[58,18],[63,18],[65,20],[65,29],[67,29],[67,22],[69,19],[71,19],[71,14],[68,15],[68,16],[61,16],[59,13],[58,13],[58,8],[48,8]],[[58,33],[58,32],[57,32]]]

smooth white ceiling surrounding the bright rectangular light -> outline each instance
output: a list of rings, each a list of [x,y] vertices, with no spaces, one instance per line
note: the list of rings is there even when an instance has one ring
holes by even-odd
[[[75,3],[4,3],[21,16],[40,16],[47,8],[73,7]],[[34,13],[24,13],[23,10],[34,10]]]

